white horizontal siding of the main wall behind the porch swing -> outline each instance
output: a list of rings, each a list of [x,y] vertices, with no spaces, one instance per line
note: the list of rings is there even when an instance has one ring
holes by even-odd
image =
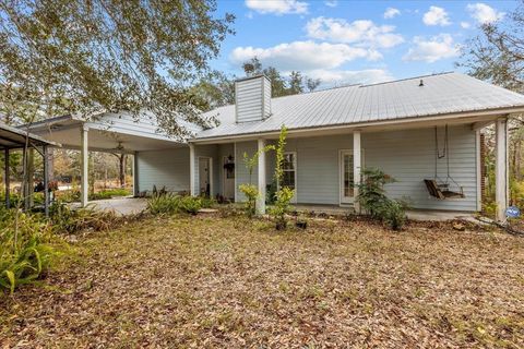
[[[415,208],[476,210],[476,145],[475,132],[468,125],[450,127],[450,171],[464,186],[465,198],[439,201],[426,190],[424,179],[434,176],[434,130],[406,130],[362,133],[366,167],[377,167],[397,182],[386,185],[389,196],[408,196]],[[443,133],[440,132],[442,147]],[[308,139],[289,139],[286,151],[297,152],[297,203],[340,204],[338,152],[353,148],[352,134]],[[242,154],[257,151],[257,142],[237,143],[237,189],[249,182]],[[441,149],[442,152],[442,149]],[[267,184],[271,183],[274,156],[267,156]],[[439,177],[445,179],[445,159],[439,160]],[[257,169],[252,176],[257,184]],[[453,188],[451,188],[453,190]],[[238,201],[245,197],[237,191]]]

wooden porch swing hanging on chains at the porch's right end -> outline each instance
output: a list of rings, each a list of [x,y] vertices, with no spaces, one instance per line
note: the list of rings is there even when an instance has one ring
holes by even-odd
[[[448,141],[448,124],[444,129],[444,147],[442,149],[442,154],[439,151],[439,137],[437,132],[437,127],[434,127],[434,177],[433,179],[425,179],[424,182],[426,183],[426,188],[431,196],[437,197],[439,200],[445,198],[463,198],[464,189],[458,185],[458,183],[451,177],[450,174],[450,147]],[[446,165],[446,177],[445,180],[441,180],[438,174],[438,161],[445,157],[445,165]],[[450,186],[453,186],[454,191],[450,190]]]

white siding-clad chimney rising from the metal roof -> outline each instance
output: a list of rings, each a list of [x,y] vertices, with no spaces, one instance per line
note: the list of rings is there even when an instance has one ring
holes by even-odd
[[[271,82],[265,75],[235,82],[236,122],[262,121],[271,116]]]

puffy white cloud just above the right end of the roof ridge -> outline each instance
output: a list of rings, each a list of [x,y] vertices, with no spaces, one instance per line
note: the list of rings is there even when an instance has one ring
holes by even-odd
[[[458,56],[458,45],[453,43],[450,34],[440,34],[429,39],[420,36],[414,38],[415,47],[403,57],[406,61],[425,61],[428,63]]]

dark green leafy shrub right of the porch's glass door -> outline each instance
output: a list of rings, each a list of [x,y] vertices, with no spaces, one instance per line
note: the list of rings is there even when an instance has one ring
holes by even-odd
[[[365,169],[362,174],[364,180],[358,185],[358,203],[372,218],[384,221],[393,230],[401,230],[407,220],[407,201],[391,200],[384,190],[384,185],[395,182],[395,179],[374,168]]]

